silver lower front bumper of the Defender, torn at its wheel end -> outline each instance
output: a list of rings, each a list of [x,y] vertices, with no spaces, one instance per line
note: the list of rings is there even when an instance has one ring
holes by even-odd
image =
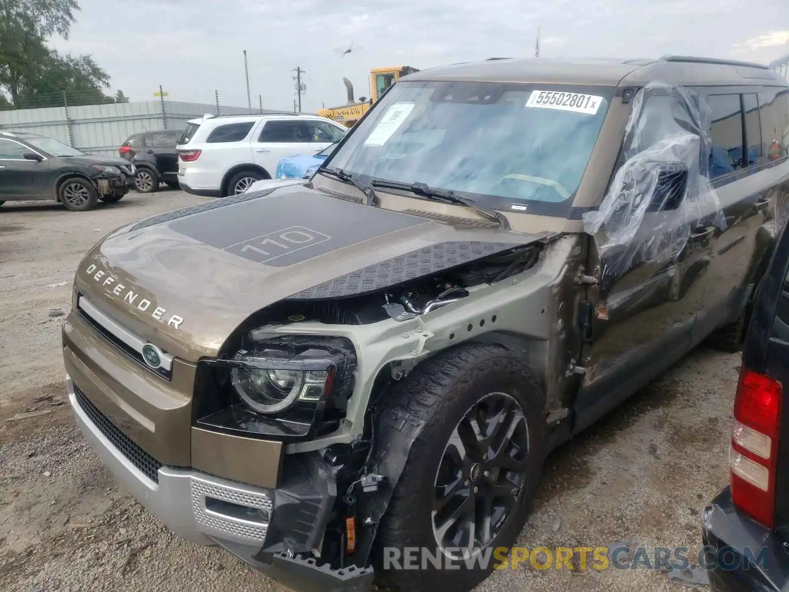
[[[154,480],[150,460],[140,457],[146,453],[129,448],[136,444],[122,440],[70,377],[66,387],[77,425],[110,472],[181,538],[219,545],[297,592],[366,592],[372,586],[372,568],[331,569],[301,554],[320,546],[336,496],[320,468],[316,474],[310,463],[296,461],[273,490],[170,466],[159,466]]]

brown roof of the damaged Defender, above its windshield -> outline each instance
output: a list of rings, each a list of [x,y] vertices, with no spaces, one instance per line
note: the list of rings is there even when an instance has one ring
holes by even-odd
[[[403,77],[406,81],[543,82],[598,86],[667,84],[787,86],[767,66],[749,62],[664,56],[656,59],[491,58],[424,69]]]

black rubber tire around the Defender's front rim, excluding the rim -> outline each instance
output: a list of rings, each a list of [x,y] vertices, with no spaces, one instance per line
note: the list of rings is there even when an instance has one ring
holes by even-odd
[[[531,511],[544,462],[544,394],[529,366],[504,347],[469,344],[445,350],[422,362],[392,388],[391,406],[421,419],[424,427],[409,451],[376,534],[373,561],[382,586],[402,592],[471,590],[497,563],[492,556],[485,568],[473,564],[469,569],[461,562],[458,570],[442,570],[428,561],[427,570],[383,569],[383,549],[387,547],[424,547],[436,554],[431,512],[444,448],[466,411],[491,392],[507,393],[522,407],[529,428],[529,455],[527,480],[518,504],[488,547],[509,548],[518,538]]]

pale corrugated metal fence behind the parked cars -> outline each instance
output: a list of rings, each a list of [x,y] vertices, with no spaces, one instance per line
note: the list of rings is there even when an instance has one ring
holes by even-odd
[[[88,154],[114,155],[118,147],[133,133],[159,129],[184,129],[189,119],[210,113],[214,115],[240,115],[250,112],[247,107],[229,107],[211,103],[184,103],[163,98],[133,103],[106,103],[98,105],[68,104],[62,107],[37,109],[9,109],[0,111],[0,130],[26,131],[53,137],[64,144]],[[252,113],[293,113],[264,109],[262,99]]]

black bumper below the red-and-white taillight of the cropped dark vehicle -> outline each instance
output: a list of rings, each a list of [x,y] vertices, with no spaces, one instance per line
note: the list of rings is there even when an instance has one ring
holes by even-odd
[[[701,526],[705,563],[713,566],[709,571],[712,590],[789,590],[789,554],[783,539],[740,514],[731,501],[729,488],[705,508]]]

